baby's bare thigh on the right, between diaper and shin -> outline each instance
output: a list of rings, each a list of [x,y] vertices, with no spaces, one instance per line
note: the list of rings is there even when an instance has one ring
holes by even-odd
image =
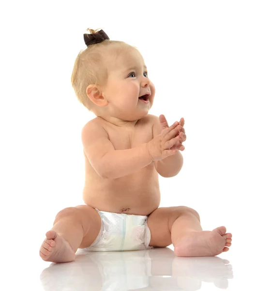
[[[150,246],[166,247],[172,244],[170,229],[185,209],[185,206],[160,207],[150,213],[147,220],[150,229]]]

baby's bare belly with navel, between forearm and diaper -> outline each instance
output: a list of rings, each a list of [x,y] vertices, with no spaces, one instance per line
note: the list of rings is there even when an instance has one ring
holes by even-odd
[[[100,178],[96,173],[94,176],[86,175],[83,200],[101,211],[149,215],[160,204],[158,173],[154,163],[132,175],[112,180]]]

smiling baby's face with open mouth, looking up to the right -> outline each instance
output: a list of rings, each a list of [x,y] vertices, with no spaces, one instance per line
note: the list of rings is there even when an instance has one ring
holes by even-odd
[[[107,61],[108,82],[103,94],[108,100],[111,116],[122,120],[137,120],[147,115],[155,95],[155,87],[148,78],[143,57],[136,49],[126,49],[118,59]],[[148,103],[138,97],[150,94]]]

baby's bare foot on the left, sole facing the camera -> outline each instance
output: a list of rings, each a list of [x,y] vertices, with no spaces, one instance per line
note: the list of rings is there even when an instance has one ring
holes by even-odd
[[[49,262],[64,263],[75,260],[70,244],[54,230],[46,232],[46,239],[40,248],[40,257]]]

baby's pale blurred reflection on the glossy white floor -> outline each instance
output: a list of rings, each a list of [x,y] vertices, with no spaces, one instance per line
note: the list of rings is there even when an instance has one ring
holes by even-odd
[[[91,252],[79,249],[69,263],[52,263],[41,274],[45,291],[199,290],[202,281],[227,288],[229,261],[175,257],[170,248]]]

